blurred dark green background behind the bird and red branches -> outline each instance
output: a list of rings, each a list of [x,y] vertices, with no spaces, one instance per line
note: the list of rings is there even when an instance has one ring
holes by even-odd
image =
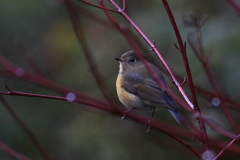
[[[73,2],[106,18],[100,9],[78,1]],[[95,0],[90,2],[98,4]],[[118,2],[121,4],[120,1]],[[184,41],[193,29],[183,26],[183,17],[193,12],[208,15],[202,27],[205,52],[212,53],[209,62],[224,95],[239,100],[239,15],[227,1],[168,0],[168,2]],[[109,8],[112,7],[107,1],[105,3]],[[162,2],[127,0],[127,10],[146,35],[150,39],[155,39],[157,47],[172,70],[185,77],[181,55],[173,45],[177,40]],[[124,18],[117,14],[114,16],[121,25],[129,27],[136,33]],[[106,27],[86,15],[79,17],[98,69],[112,96],[119,103],[115,89],[118,62],[113,58],[131,50],[131,47],[114,28]],[[62,86],[104,99],[89,70],[82,47],[74,34],[69,14],[62,3],[55,0],[0,1],[0,24],[2,56],[27,72],[34,73],[16,45],[16,42],[20,41],[26,53],[32,57],[47,78]],[[143,43],[142,47],[149,50],[142,38],[137,37]],[[148,51],[145,54],[156,59],[156,63],[160,64],[154,53]],[[194,83],[211,91],[206,74],[188,45],[187,54]],[[168,86],[179,94],[171,84],[170,77],[165,75],[165,78]],[[54,91],[17,78],[1,76],[0,84],[2,92],[6,92],[4,85],[7,85],[15,91],[61,96]],[[188,88],[184,88],[190,95]],[[38,138],[50,157],[55,160],[197,159],[185,147],[161,132],[152,129],[151,133],[145,133],[145,126],[129,119],[120,121],[120,116],[93,108],[88,110],[86,109],[88,107],[57,100],[16,96],[4,98]],[[221,118],[224,117],[221,111],[209,109],[210,100],[200,96],[198,100],[204,116],[214,115],[216,119],[220,119],[219,123],[226,129],[232,130],[225,118]],[[191,115],[188,116],[192,118]],[[165,110],[158,111],[155,118],[178,125]],[[239,122],[238,117],[234,118]],[[207,128],[207,131],[210,136],[221,138],[210,128]],[[157,137],[158,140],[153,137]],[[0,140],[31,159],[43,159],[2,103],[0,104]],[[187,142],[203,149],[200,142]],[[237,159],[237,157],[231,158]],[[0,159],[14,158],[0,150]]]

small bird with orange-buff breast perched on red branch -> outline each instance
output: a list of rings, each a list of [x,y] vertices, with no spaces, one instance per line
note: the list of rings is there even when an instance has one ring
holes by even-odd
[[[166,90],[161,88],[153,79],[134,51],[128,51],[120,58],[115,59],[120,63],[119,74],[116,81],[117,94],[120,102],[128,108],[128,110],[124,112],[122,120],[125,118],[125,113],[134,109],[153,110],[151,119],[148,121],[149,126],[146,131],[148,132],[155,109],[165,107],[179,124],[185,122],[186,119],[180,113],[177,103],[167,94]],[[147,64],[163,84],[166,85],[165,78],[161,71],[148,61]]]

